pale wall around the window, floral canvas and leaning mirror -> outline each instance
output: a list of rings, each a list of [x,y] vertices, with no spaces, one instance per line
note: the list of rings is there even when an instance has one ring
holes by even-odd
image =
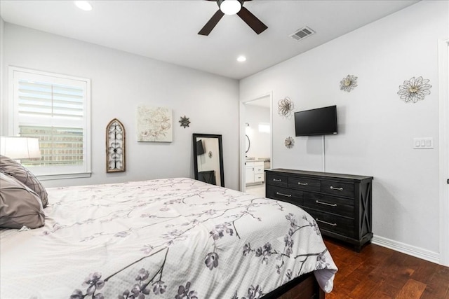
[[[192,134],[200,133],[222,134],[225,186],[239,188],[238,81],[10,23],[4,25],[2,45],[5,75],[8,66],[15,66],[92,81],[93,174],[43,181],[45,186],[193,178]],[[1,126],[8,134],[8,91],[2,92]],[[138,104],[173,109],[173,142],[137,141]],[[180,127],[181,116],[190,118],[189,127]],[[107,174],[105,130],[113,118],[126,128],[126,172]]]

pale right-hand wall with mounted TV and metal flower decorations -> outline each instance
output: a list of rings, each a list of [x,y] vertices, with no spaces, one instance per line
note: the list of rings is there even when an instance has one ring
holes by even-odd
[[[448,38],[448,20],[448,1],[421,1],[240,84],[242,102],[272,90],[274,103],[287,95],[296,111],[336,104],[339,134],[326,136],[326,172],[374,176],[375,237],[436,261],[437,41]],[[358,76],[349,93],[340,90],[348,74]],[[433,87],[424,101],[406,104],[396,92],[413,76]],[[272,167],[321,171],[321,137],[295,137],[287,149],[294,134],[294,120],[274,113]],[[413,137],[433,137],[434,149],[414,150]]]

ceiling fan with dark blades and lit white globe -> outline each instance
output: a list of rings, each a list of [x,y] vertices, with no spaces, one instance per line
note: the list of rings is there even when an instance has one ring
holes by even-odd
[[[260,34],[268,27],[255,17],[248,9],[243,7],[243,3],[251,0],[206,0],[217,2],[218,11],[208,20],[206,25],[198,32],[200,35],[209,35],[212,29],[221,20],[223,15],[239,15],[255,33]]]

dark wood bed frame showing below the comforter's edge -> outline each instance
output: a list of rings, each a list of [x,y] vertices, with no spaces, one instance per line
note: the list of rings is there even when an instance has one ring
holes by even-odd
[[[324,299],[313,272],[289,281],[280,288],[264,295],[262,299]]]

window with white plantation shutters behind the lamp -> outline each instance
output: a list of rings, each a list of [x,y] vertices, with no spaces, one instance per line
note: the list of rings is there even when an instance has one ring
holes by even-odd
[[[89,176],[91,81],[10,67],[14,136],[38,137],[40,160],[21,160],[39,179]]]

